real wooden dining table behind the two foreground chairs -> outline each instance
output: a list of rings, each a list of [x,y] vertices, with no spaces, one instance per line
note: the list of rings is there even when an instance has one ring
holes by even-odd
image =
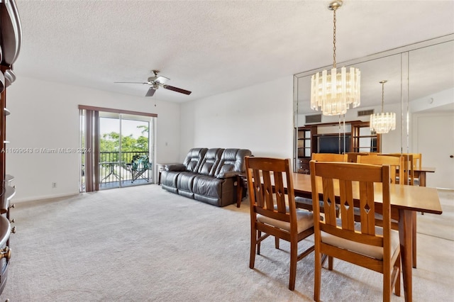
[[[295,196],[312,198],[311,175],[293,173]],[[320,184],[321,185],[321,184]],[[322,190],[321,190],[322,191]],[[390,184],[391,216],[399,221],[399,240],[402,257],[405,301],[412,301],[412,232],[415,212],[441,215],[440,199],[436,188]],[[355,196],[353,196],[355,198]],[[358,196],[356,196],[358,198]],[[375,203],[382,203],[382,186],[375,184]]]

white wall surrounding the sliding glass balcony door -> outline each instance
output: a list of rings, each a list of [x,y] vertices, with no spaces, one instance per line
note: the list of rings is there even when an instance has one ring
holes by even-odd
[[[79,104],[157,113],[157,162],[179,159],[179,104],[18,77],[7,89],[6,138],[15,148],[79,147]],[[7,150],[8,151],[8,150]],[[79,154],[6,154],[14,201],[77,194]],[[52,189],[52,182],[57,188]]]

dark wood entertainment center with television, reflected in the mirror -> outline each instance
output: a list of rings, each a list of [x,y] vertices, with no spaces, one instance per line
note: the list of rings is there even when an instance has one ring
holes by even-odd
[[[341,131],[339,131],[339,123],[318,123],[295,128],[294,171],[309,174],[312,153],[338,153],[338,147],[333,149],[336,147],[333,146],[333,142],[339,140],[339,133],[341,133],[341,152],[343,152],[343,123]],[[381,152],[380,136],[370,131],[368,121],[345,121],[345,152],[352,154]],[[321,147],[321,141],[326,145]]]

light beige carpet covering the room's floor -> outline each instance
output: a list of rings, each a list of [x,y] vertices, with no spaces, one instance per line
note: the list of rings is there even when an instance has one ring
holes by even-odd
[[[442,216],[418,216],[414,301],[453,299],[454,245],[439,226],[452,234],[452,196],[441,193]],[[312,301],[314,294],[313,255],[299,262],[295,291],[287,288],[284,242],[275,250],[265,240],[249,269],[247,200],[217,208],[147,185],[19,203],[11,218],[18,231],[1,301]],[[335,260],[322,272],[321,298],[382,301],[381,284],[381,274]]]

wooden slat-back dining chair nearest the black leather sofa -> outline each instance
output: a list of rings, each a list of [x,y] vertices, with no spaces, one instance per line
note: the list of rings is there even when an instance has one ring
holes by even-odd
[[[270,235],[290,242],[289,289],[294,290],[297,262],[314,251],[311,245],[298,255],[298,242],[314,234],[314,215],[297,209],[294,201],[292,169],[289,159],[245,157],[250,200],[250,260],[254,268],[255,253]],[[262,234],[263,233],[263,234]]]

